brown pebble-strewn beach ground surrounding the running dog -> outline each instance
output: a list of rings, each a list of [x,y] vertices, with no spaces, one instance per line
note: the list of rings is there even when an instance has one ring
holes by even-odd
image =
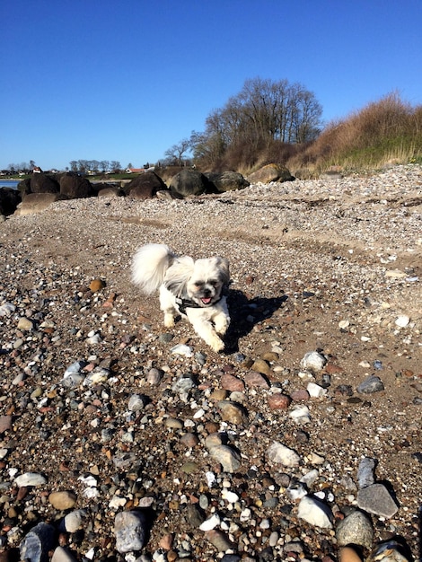
[[[131,285],[146,242],[230,260],[224,353],[186,321],[164,329],[157,295]],[[60,201],[1,223],[0,256],[3,560],[39,522],[57,531],[47,557],[335,560],[365,459],[398,507],[374,505],[374,544],[399,536],[420,558],[420,166]],[[303,518],[296,489],[330,525]],[[131,511],[147,532],[125,554],[115,517]]]

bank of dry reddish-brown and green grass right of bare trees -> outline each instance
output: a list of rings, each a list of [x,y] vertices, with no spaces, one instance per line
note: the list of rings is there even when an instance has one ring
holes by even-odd
[[[270,162],[285,164],[297,177],[324,171],[378,170],[391,163],[422,163],[422,105],[412,107],[393,92],[345,119],[330,122],[312,143],[273,142],[259,154],[228,153],[226,169],[248,175]]]

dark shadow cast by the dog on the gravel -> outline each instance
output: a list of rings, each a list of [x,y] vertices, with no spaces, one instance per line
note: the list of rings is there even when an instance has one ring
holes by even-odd
[[[286,294],[271,298],[255,296],[248,299],[242,291],[229,289],[227,304],[231,321],[224,337],[225,352],[231,354],[239,351],[239,340],[247,336],[259,322],[271,318],[287,299]]]

